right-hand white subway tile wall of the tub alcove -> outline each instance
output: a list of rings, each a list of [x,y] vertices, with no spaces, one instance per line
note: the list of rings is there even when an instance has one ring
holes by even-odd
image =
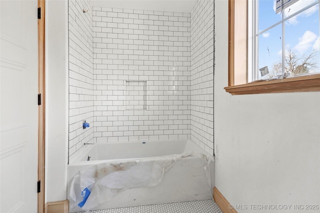
[[[191,140],[213,154],[214,1],[191,11]]]

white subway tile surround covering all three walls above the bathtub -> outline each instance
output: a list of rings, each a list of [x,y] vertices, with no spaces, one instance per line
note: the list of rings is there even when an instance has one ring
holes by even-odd
[[[69,2],[69,10],[73,5]],[[90,12],[69,12],[69,20],[92,26],[91,38],[75,32],[81,43],[92,41],[92,49],[76,48],[76,56],[70,52],[75,62],[92,57],[88,73],[76,73],[81,85],[92,87],[75,91],[88,96],[70,99],[75,102],[70,119],[81,118],[70,121],[70,158],[84,150],[86,141],[185,138],[213,154],[213,1],[198,1],[191,13],[103,7]],[[91,15],[92,22],[72,17],[77,15]],[[73,81],[70,67],[70,90]],[[92,110],[86,107],[90,104]],[[85,119],[90,127],[82,129]]]

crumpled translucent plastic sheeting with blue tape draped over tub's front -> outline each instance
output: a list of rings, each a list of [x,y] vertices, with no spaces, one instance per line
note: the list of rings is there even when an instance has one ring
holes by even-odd
[[[202,159],[210,189],[211,180],[208,164],[213,161],[213,158],[190,151],[131,161],[99,163],[82,169],[72,179],[70,197],[73,202],[71,204],[73,203],[73,207],[77,204],[81,209],[88,211],[123,190],[155,186],[161,182],[164,173],[177,160],[190,155]]]

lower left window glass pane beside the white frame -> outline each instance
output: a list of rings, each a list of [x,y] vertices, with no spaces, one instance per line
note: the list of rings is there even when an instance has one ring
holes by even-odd
[[[269,29],[258,37],[258,79],[269,78],[278,74],[278,61],[282,52],[281,24]],[[280,73],[281,74],[281,67]]]

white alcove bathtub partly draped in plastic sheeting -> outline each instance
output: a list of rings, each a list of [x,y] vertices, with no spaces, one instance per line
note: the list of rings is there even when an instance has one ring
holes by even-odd
[[[69,212],[81,211],[78,200],[73,201],[70,197],[70,186],[74,175],[81,169],[91,166],[103,165],[104,163],[125,163],[132,161],[154,161],[163,159],[172,154],[191,155],[181,157],[163,174],[161,181],[155,186],[135,187],[122,190],[107,197],[104,203],[90,208],[90,210],[127,207],[147,204],[158,204],[178,201],[191,201],[212,198],[214,186],[214,163],[213,158],[190,140],[167,140],[167,141],[134,141],[96,143],[91,146],[82,156],[68,165],[68,200],[70,201]],[[202,153],[202,154],[199,154]],[[207,157],[203,157],[203,155]],[[87,158],[89,157],[89,161]],[[210,158],[207,162],[204,159]],[[76,185],[74,184],[75,186]],[[73,186],[74,186],[73,185]],[[77,198],[80,196],[77,190]]]

